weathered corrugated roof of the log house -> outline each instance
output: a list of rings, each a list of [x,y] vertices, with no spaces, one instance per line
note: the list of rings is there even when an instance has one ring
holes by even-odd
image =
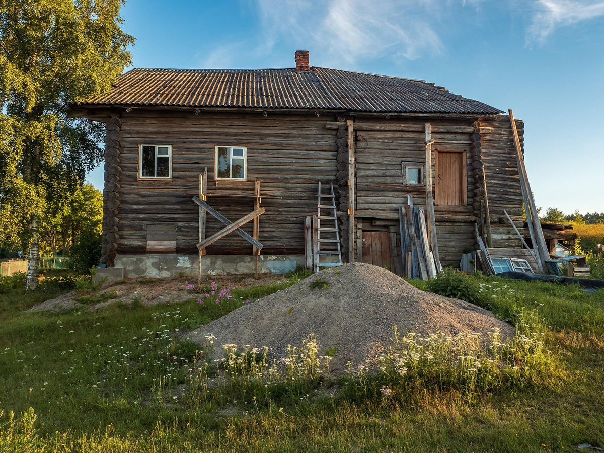
[[[499,114],[487,104],[422,80],[338,69],[132,69],[111,92],[86,104],[108,106],[335,109],[355,112]]]

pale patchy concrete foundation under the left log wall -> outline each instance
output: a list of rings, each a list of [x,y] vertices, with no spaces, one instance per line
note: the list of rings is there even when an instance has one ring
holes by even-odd
[[[259,274],[287,274],[304,265],[304,255],[260,255]],[[254,274],[255,260],[251,255],[204,255],[202,275]],[[123,271],[121,278],[197,277],[199,255],[152,254],[117,255],[115,268],[98,271]],[[103,274],[104,275],[104,274]],[[120,280],[120,278],[116,278]]]

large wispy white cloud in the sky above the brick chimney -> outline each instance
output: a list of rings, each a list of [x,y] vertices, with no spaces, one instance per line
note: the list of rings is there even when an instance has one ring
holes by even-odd
[[[470,0],[474,3],[476,0]],[[306,43],[321,64],[390,55],[413,60],[443,50],[434,20],[438,0],[257,0],[266,51],[280,40]],[[313,64],[311,62],[311,64]]]

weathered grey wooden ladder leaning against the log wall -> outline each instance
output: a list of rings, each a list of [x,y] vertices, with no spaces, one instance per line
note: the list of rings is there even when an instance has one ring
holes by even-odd
[[[336,213],[336,198],[333,194],[332,182],[330,182],[329,187],[329,194],[321,193],[321,182],[319,182],[319,196],[316,216],[315,272],[318,272],[319,268],[323,266],[342,265],[342,251],[340,248],[338,230],[338,214]],[[329,204],[327,203],[327,200],[329,200]],[[336,258],[337,261],[334,261],[334,258]],[[321,261],[321,259],[324,260]]]

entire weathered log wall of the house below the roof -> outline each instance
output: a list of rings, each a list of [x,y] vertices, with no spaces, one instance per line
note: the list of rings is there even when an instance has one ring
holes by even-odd
[[[403,185],[401,162],[425,163],[424,125],[432,126],[433,153],[464,152],[467,202],[463,206],[436,206],[435,220],[441,262],[458,265],[467,248],[475,248],[474,223],[480,217],[478,199],[484,168],[490,206],[493,246],[519,246],[510,226],[500,222],[503,210],[522,215],[512,130],[509,117],[490,118],[338,118],[321,114],[227,113],[166,110],[122,112],[108,119],[103,247],[112,253],[144,254],[149,251],[149,228],[155,233],[176,229],[177,253],[196,253],[199,210],[191,198],[199,194],[199,174],[208,168],[208,203],[231,220],[254,209],[253,181],[261,181],[265,214],[260,217],[262,254],[304,253],[304,218],[316,214],[317,183],[337,182],[336,197],[342,228],[342,249],[347,252],[349,208],[347,167],[348,131],[354,120],[356,138],[356,217],[359,233],[393,231],[397,208],[406,196],[425,206],[423,185]],[[522,135],[524,124],[517,122]],[[521,139],[522,140],[522,139]],[[172,178],[138,177],[139,146],[172,146]],[[225,190],[214,181],[214,147],[245,146],[249,190]],[[435,154],[432,156],[434,162]],[[432,181],[436,181],[434,166]],[[435,187],[433,187],[435,192]],[[357,222],[355,220],[355,222]],[[207,216],[209,237],[222,223]],[[252,234],[252,224],[243,226]],[[172,233],[171,233],[172,235]],[[155,236],[153,236],[155,238]],[[161,240],[155,238],[153,240]],[[172,236],[169,238],[172,241]],[[170,242],[171,244],[172,242]],[[400,237],[397,237],[400,249]],[[168,245],[170,245],[168,244]],[[160,244],[164,246],[164,244]],[[165,245],[167,246],[167,245]],[[170,245],[172,247],[172,245]],[[113,251],[113,252],[111,252]],[[236,234],[211,245],[208,254],[251,254],[252,246]],[[350,260],[344,256],[345,260]]]

